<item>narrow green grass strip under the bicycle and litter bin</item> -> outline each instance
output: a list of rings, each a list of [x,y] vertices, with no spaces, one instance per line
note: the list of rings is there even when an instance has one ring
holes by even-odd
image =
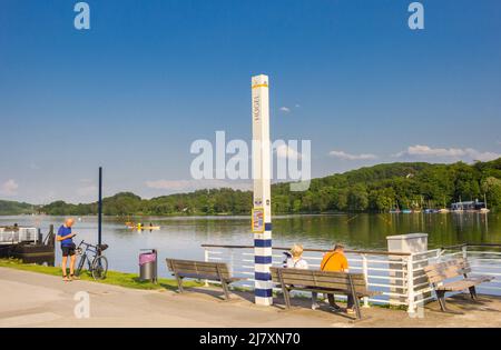
[[[62,279],[61,268],[59,267],[47,267],[35,263],[23,263],[18,259],[0,259],[0,267],[2,268],[11,268],[38,273],[46,273],[58,276]],[[69,272],[68,272],[69,274]],[[126,288],[134,289],[147,289],[147,290],[177,290],[177,282],[174,279],[160,278],[158,279],[158,283],[151,283],[148,281],[140,281],[139,276],[136,273],[126,273],[118,271],[108,271],[105,280],[95,281],[94,278],[87,273],[87,271],[82,271],[80,276],[81,280],[92,281],[96,283],[105,283],[105,284],[114,284]],[[204,286],[200,281],[188,280],[183,283],[185,287],[200,287]]]

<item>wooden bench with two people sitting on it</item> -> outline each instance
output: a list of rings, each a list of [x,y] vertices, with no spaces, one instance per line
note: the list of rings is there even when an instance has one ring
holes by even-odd
[[[285,304],[291,308],[291,290],[352,296],[356,319],[362,319],[360,298],[379,292],[367,290],[363,273],[314,271],[286,268],[271,268],[272,280],[282,287]]]

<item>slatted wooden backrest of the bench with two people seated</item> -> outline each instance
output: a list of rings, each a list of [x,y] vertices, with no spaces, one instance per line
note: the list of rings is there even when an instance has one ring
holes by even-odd
[[[279,283],[282,279],[287,286],[314,287],[318,289],[350,290],[350,278],[346,272],[315,271],[301,269],[271,268],[272,279]],[[357,293],[366,293],[367,286],[363,273],[350,273]]]

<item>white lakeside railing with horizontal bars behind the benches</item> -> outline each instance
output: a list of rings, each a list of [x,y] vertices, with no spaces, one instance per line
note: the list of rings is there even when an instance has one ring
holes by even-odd
[[[203,244],[206,261],[226,262],[235,277],[243,278],[240,287],[254,288],[254,247]],[[480,250],[478,248],[482,247]],[[473,250],[472,248],[477,248]],[[501,244],[462,244],[459,249],[433,249],[420,253],[390,253],[386,251],[346,250],[350,271],[364,273],[370,290],[381,294],[365,298],[363,303],[406,307],[414,312],[416,307],[435,298],[428,282],[424,267],[448,259],[463,257],[470,260],[472,276],[493,276],[497,280],[478,287],[479,293],[501,296]],[[283,264],[286,248],[273,248],[273,264]],[[320,269],[325,250],[305,249],[303,258],[310,269]],[[279,290],[279,288],[275,288]],[[337,296],[336,296],[337,297]],[[343,296],[340,296],[343,298]]]

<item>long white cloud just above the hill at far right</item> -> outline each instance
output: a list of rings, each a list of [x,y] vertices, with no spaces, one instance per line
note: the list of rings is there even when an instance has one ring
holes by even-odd
[[[481,152],[472,148],[432,148],[424,144],[410,146],[405,151],[394,154],[394,157],[418,157],[418,158],[450,158],[455,160],[480,160],[488,161],[501,157],[494,152]]]

